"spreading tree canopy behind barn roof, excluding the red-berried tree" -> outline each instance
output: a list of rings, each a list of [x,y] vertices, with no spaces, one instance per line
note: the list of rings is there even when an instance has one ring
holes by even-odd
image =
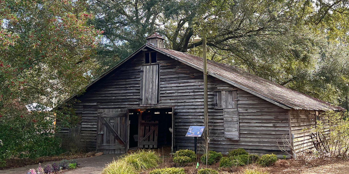
[[[104,31],[102,69],[123,60],[153,32],[166,48],[237,66],[285,87],[348,108],[347,0],[90,1]]]

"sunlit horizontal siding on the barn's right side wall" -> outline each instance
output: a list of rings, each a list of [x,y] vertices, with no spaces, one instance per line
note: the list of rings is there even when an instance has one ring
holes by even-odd
[[[310,133],[315,130],[315,111],[292,109],[289,114],[295,152],[313,148]]]

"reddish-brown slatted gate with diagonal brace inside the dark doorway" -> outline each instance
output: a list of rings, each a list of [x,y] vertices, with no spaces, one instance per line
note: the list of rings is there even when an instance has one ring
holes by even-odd
[[[141,121],[140,148],[157,148],[158,121]]]

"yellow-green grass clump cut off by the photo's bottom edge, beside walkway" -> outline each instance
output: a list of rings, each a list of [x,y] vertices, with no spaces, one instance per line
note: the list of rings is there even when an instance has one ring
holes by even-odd
[[[112,161],[102,170],[102,174],[136,174],[132,165],[124,160]]]

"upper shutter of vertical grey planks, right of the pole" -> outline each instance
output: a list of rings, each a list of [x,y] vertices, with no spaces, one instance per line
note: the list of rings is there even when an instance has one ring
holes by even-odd
[[[236,90],[215,91],[215,108],[237,108]]]

